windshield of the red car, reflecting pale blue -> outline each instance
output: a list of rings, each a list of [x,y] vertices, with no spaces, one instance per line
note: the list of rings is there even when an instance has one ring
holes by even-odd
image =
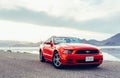
[[[79,38],[72,38],[72,37],[56,37],[54,38],[54,44],[60,43],[80,43],[81,40]]]

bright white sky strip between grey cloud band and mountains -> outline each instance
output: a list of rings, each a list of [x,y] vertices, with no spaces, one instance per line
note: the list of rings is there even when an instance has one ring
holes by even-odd
[[[0,20],[0,40],[19,40],[38,42],[50,36],[74,36],[81,39],[103,40],[110,34],[83,31],[65,27],[38,26],[27,23],[17,23]]]

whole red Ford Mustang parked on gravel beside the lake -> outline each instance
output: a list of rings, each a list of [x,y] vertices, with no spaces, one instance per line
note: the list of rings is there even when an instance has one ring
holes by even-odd
[[[103,55],[92,45],[82,43],[74,37],[51,37],[40,45],[39,58],[41,62],[50,61],[55,68],[64,65],[102,64]]]

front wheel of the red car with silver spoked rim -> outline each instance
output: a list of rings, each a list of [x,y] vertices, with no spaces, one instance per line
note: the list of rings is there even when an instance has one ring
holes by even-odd
[[[63,67],[62,64],[61,64],[61,62],[60,62],[60,56],[59,56],[58,52],[56,52],[53,55],[53,61],[52,61],[52,63],[53,63],[53,66],[55,68],[57,68],[57,69],[61,69]]]

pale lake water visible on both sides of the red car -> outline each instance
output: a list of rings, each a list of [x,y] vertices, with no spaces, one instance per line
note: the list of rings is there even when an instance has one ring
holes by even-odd
[[[105,60],[120,60],[120,46],[99,46]],[[0,50],[11,50],[19,53],[39,54],[39,47],[0,47]]]

